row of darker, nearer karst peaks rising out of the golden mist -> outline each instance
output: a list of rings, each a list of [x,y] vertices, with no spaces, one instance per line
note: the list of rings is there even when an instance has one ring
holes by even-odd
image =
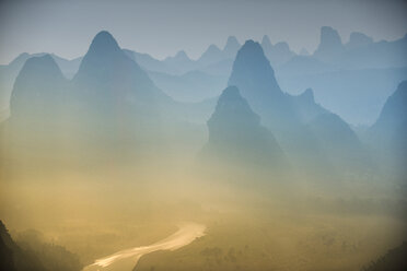
[[[337,43],[338,36],[330,28],[324,33],[324,38],[332,39],[323,43],[325,47]],[[352,40],[350,47],[354,48],[364,46],[368,38],[357,35]],[[234,54],[236,48],[237,42],[230,38],[224,50]],[[329,50],[319,51],[316,56]],[[171,61],[186,59],[185,54],[178,54]],[[403,141],[405,85],[402,83],[388,98],[377,122],[369,129],[374,134],[370,142],[377,137],[397,144]],[[218,158],[244,157],[245,163],[255,165],[289,161],[314,172],[372,168],[373,160],[358,134],[342,118],[316,103],[312,89],[300,95],[282,91],[261,45],[254,40],[246,40],[235,54],[228,87],[219,98],[205,103],[181,103],[165,94],[108,32],[94,37],[70,80],[50,55],[27,59],[11,96],[11,127],[18,134],[31,129],[47,143],[60,133],[74,131],[84,132],[80,137],[90,145],[115,148],[143,142],[140,145],[146,146],[148,141],[154,145],[167,134],[177,134],[175,141],[183,142],[189,137],[185,131],[190,123],[199,126],[206,120],[209,139],[203,152]]]

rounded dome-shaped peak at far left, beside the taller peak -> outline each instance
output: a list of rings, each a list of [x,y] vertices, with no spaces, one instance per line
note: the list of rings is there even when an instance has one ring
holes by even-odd
[[[55,117],[67,91],[67,80],[51,56],[26,60],[11,96],[12,119],[36,120]]]

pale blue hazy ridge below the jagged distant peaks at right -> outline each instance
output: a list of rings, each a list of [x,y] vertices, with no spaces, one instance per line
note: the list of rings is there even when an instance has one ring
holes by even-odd
[[[375,121],[391,90],[407,80],[407,68],[341,70],[313,57],[294,57],[276,71],[284,91],[312,87],[315,99],[347,122]]]

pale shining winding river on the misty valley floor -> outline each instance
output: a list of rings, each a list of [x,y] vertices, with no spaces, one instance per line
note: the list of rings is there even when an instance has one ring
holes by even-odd
[[[120,250],[111,256],[95,260],[82,271],[131,271],[141,256],[158,250],[175,250],[193,243],[196,238],[205,235],[206,226],[196,223],[184,223],[179,229],[171,236],[150,246],[141,246]]]

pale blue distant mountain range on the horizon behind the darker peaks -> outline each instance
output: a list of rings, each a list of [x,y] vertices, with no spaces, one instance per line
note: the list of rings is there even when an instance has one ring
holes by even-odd
[[[261,47],[276,72],[281,87],[300,94],[312,87],[315,99],[352,125],[373,123],[384,102],[398,83],[407,79],[407,37],[394,42],[374,42],[353,32],[344,44],[338,32],[324,26],[321,40],[312,55],[295,54],[287,43],[271,44],[263,37]],[[124,49],[167,95],[181,102],[200,102],[219,96],[226,86],[234,56],[241,44],[230,36],[223,49],[211,45],[197,59],[185,51],[158,60],[148,54]],[[0,67],[0,118],[8,117],[9,98],[14,80],[24,61],[44,54],[22,54],[8,66]],[[51,55],[62,73],[72,78],[82,57],[66,60]]]

